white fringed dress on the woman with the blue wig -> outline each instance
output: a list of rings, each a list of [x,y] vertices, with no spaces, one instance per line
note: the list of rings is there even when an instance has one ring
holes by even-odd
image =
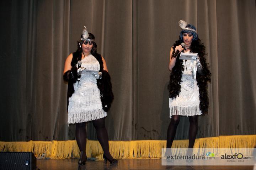
[[[169,98],[170,118],[172,115],[193,116],[201,115],[199,109],[199,87],[197,80],[193,79],[191,60],[183,60],[184,71],[181,78],[180,95],[172,100]]]

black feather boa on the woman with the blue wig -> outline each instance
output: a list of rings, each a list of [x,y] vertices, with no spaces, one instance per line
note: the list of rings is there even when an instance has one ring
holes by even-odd
[[[177,45],[180,45],[182,43],[181,40],[177,40],[174,45],[173,49]],[[175,50],[173,50],[174,55]],[[200,39],[194,40],[191,43],[191,52],[193,53],[198,53],[198,56],[200,58],[200,62],[203,66],[202,73],[199,74],[197,72],[196,75],[196,80],[197,80],[197,85],[199,87],[199,100],[200,100],[200,105],[199,108],[202,111],[203,114],[208,113],[208,107],[209,107],[209,95],[208,95],[208,82],[211,82],[211,73],[209,70],[208,63],[206,62],[206,53],[205,53],[205,46],[201,42]],[[170,82],[168,85],[169,89],[169,97],[174,99],[177,96],[179,96],[180,91],[181,91],[181,78],[182,78],[182,71],[184,71],[184,66],[182,65],[183,60],[179,60],[179,57],[176,60],[175,66],[172,68],[171,74],[170,74]]]

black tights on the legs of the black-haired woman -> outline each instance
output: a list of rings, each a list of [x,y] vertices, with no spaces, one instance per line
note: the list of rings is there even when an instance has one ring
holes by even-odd
[[[96,129],[96,134],[98,141],[101,144],[103,152],[107,159],[113,160],[108,148],[108,134],[107,129],[105,127],[105,118],[101,118],[98,120],[92,120],[92,124]],[[86,125],[87,122],[77,123],[76,124],[76,142],[80,151],[83,151],[82,159],[85,160],[86,157]]]

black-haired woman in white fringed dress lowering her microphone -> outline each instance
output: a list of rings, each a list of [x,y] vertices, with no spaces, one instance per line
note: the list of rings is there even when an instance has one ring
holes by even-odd
[[[84,26],[85,27],[85,26]],[[78,49],[71,53],[64,66],[63,78],[68,81],[68,124],[76,125],[76,142],[81,151],[79,167],[86,162],[86,125],[92,121],[103,158],[117,164],[109,152],[105,118],[113,101],[112,85],[105,59],[97,53],[93,34],[85,29]]]

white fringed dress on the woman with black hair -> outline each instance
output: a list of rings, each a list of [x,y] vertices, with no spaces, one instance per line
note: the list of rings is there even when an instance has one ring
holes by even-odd
[[[100,63],[91,54],[81,60],[81,67],[100,70]],[[97,120],[107,116],[103,111],[97,79],[91,73],[82,73],[74,84],[74,94],[69,98],[68,124]]]

